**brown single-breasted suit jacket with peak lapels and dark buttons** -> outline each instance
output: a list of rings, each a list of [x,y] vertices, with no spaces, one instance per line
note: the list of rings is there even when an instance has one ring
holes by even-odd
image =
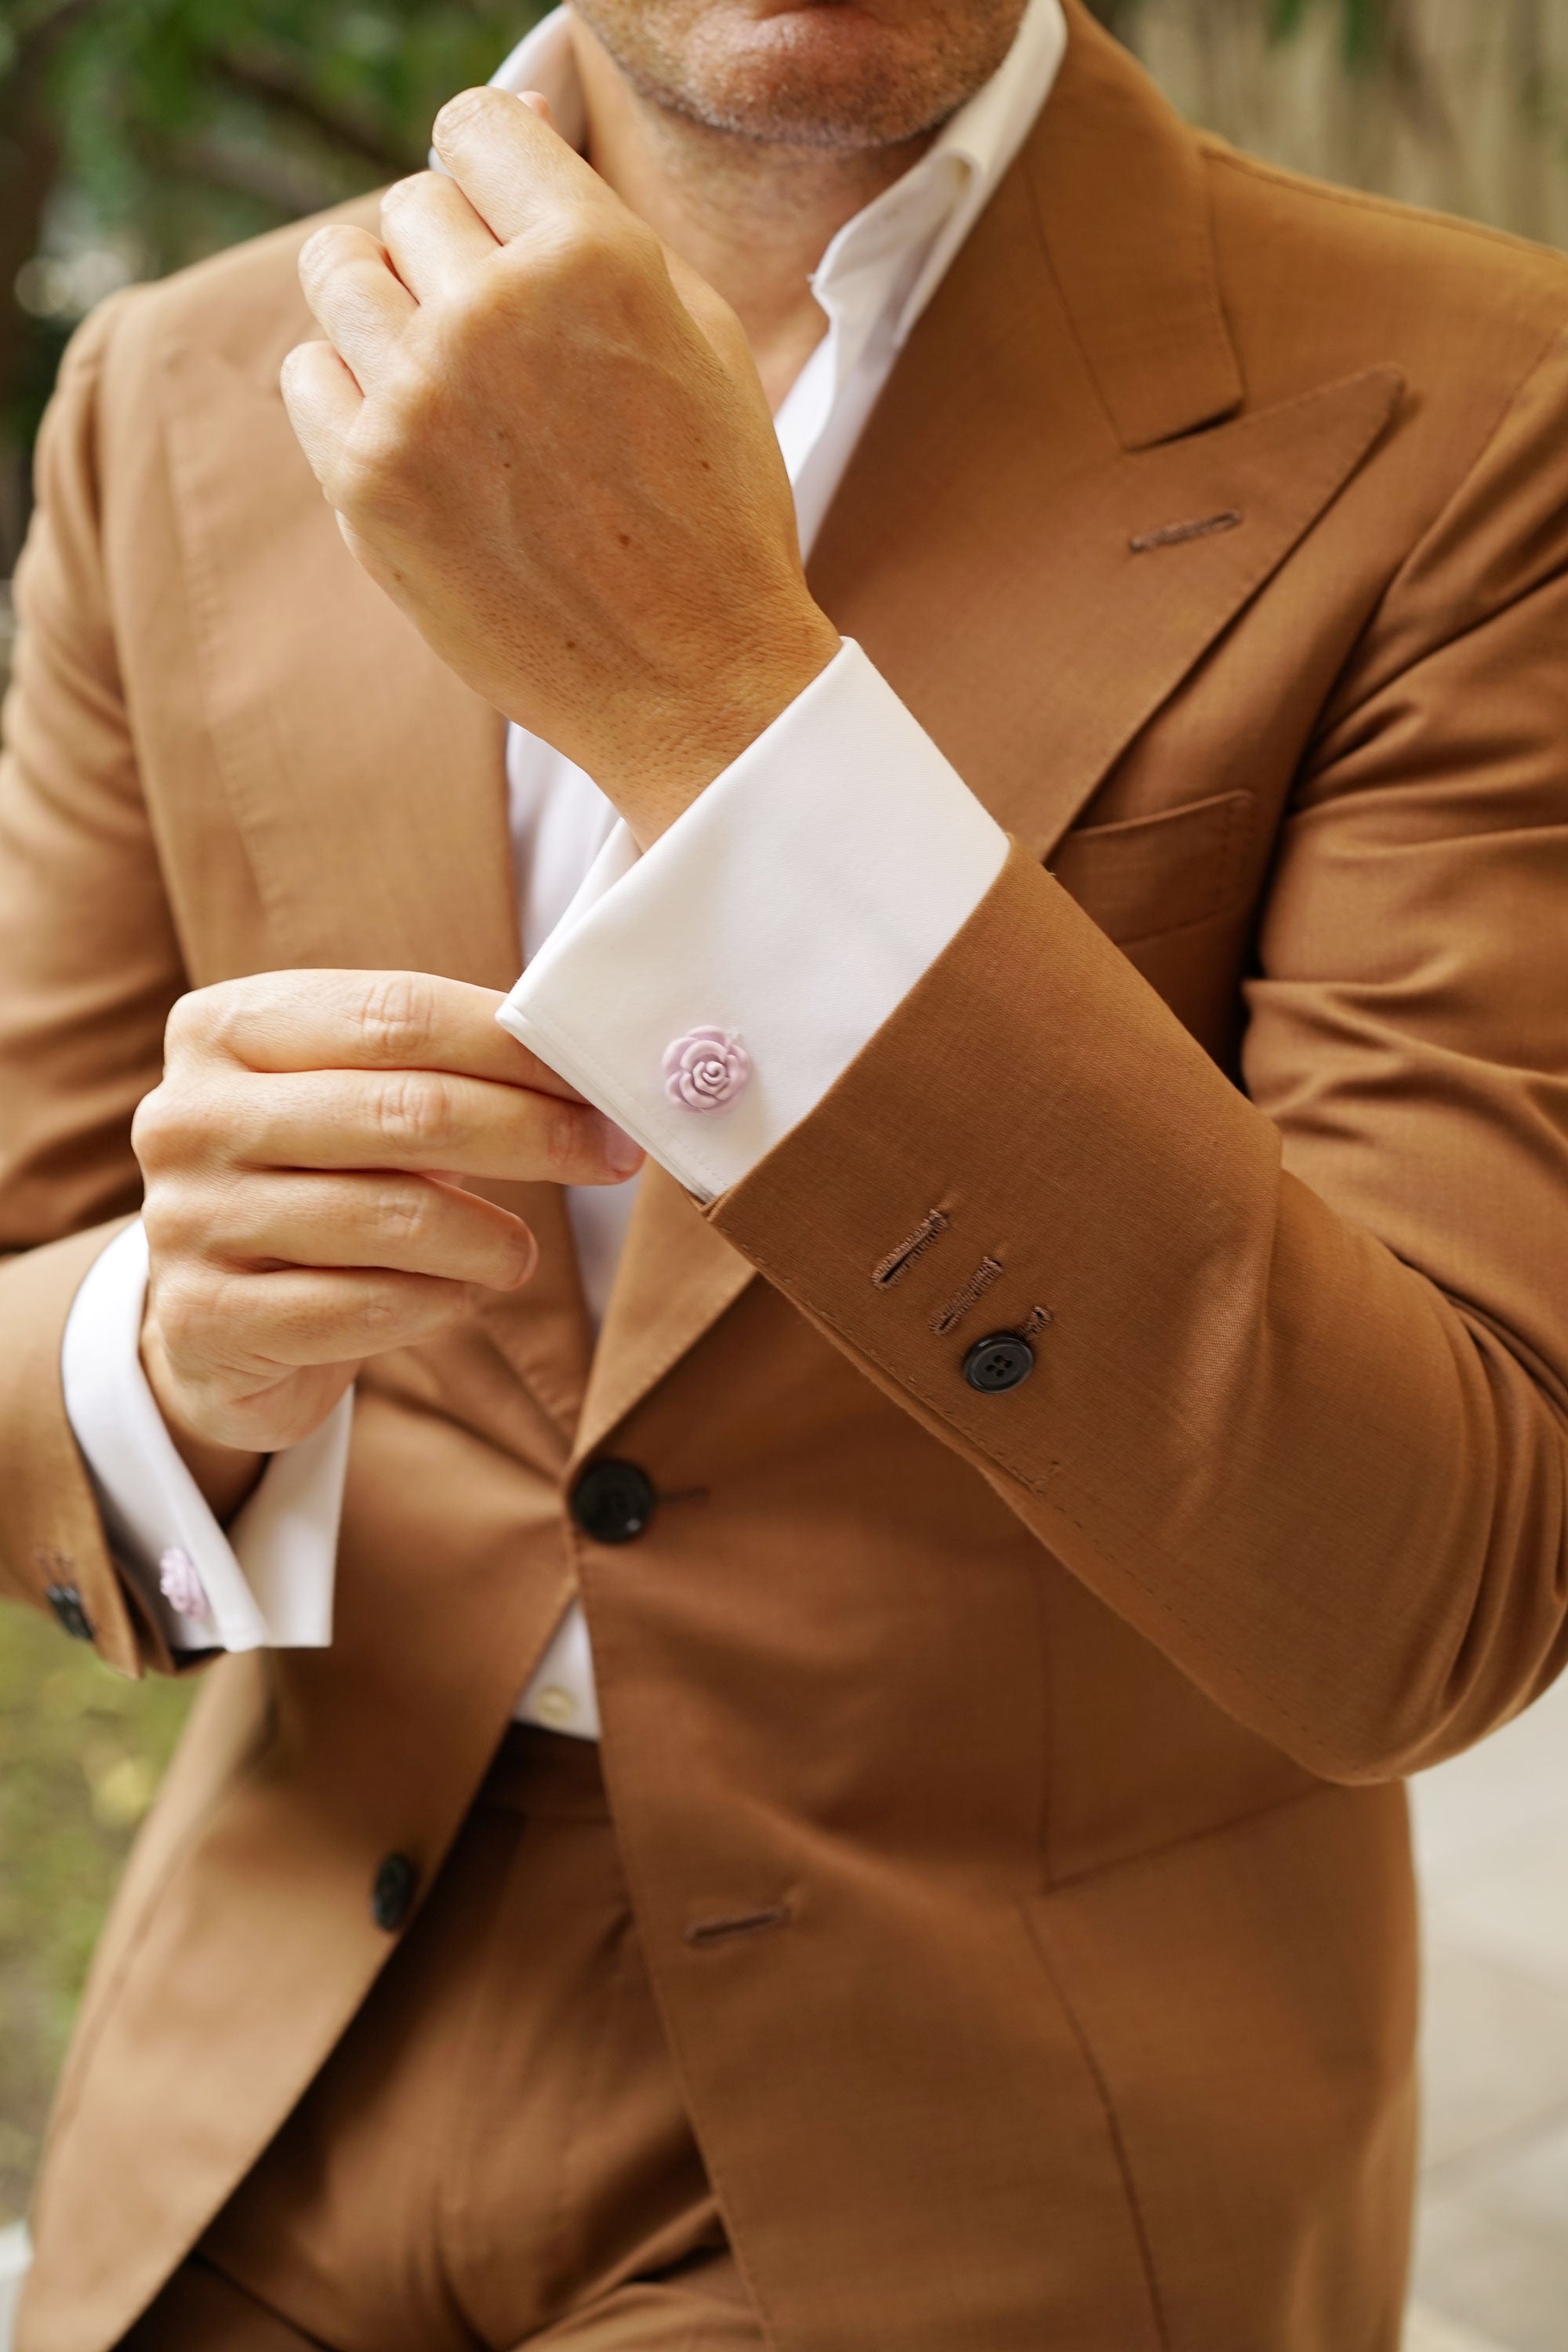
[[[501,724],[282,414],[296,245],[89,322],[21,581],[0,1541],[127,1672],[59,1343],[169,1002],[517,967]],[[364,1376],[336,1644],[205,1679],[24,2352],[103,2352],[247,2171],[574,1583],[778,2352],[1394,2352],[1399,1780],[1566,1646],[1566,325],[1561,259],[1190,134],[1074,7],[813,564],[1011,863],[712,1214],[649,1178],[597,1352],[520,1188],[536,1287]],[[562,1503],[607,1451],[670,1496],[623,1550]]]

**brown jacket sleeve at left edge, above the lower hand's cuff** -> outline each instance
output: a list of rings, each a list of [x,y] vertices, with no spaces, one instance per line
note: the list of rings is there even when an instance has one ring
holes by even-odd
[[[0,1592],[75,1590],[103,1656],[139,1672],[167,1646],[115,1573],[61,1392],[71,1301],[141,1200],[132,1112],[186,985],[103,581],[115,315],[73,343],[45,423],[0,755]]]

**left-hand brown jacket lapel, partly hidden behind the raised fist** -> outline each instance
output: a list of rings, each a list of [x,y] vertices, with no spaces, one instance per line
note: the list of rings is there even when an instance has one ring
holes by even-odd
[[[256,379],[174,350],[167,447],[205,715],[277,964],[510,988],[501,717],[348,555],[270,362]],[[567,1439],[590,1334],[564,1202],[555,1185],[487,1190],[534,1225],[541,1272],[484,1322]]]

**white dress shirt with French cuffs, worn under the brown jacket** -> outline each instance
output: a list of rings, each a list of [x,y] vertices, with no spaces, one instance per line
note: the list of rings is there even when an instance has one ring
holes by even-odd
[[[823,254],[811,289],[827,332],[776,419],[804,553],[1065,45],[1060,0],[1030,0],[999,73]],[[562,134],[583,141],[564,9],[496,82],[541,89]],[[646,856],[592,779],[520,727],[508,736],[508,793],[527,969],[501,1018],[703,1200],[813,1110],[1006,854],[1001,830],[851,642]],[[703,1030],[733,1040],[731,1068],[745,1070],[710,1115],[665,1082],[668,1049]],[[595,1324],[632,1195],[635,1183],[567,1195]],[[176,1649],[327,1646],[353,1399],[273,1456],[226,1534],[141,1371],[146,1270],[132,1225],[89,1268],[63,1343],[66,1409],[115,1555]],[[517,1712],[597,1738],[578,1606]]]

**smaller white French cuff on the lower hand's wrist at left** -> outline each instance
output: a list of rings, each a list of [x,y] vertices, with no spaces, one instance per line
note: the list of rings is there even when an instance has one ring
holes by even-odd
[[[136,1223],[87,1270],[61,1348],[66,1416],[120,1566],[172,1649],[329,1649],[353,1390],[273,1456],[223,1534],[141,1369],[146,1287]]]

